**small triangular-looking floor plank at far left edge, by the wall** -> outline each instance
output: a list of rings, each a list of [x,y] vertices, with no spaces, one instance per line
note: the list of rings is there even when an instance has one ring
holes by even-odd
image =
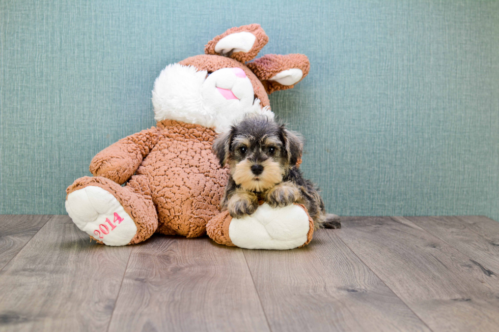
[[[52,216],[0,215],[0,270]]]

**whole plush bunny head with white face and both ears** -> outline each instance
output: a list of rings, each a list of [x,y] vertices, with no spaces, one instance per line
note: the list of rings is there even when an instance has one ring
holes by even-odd
[[[308,74],[310,62],[302,54],[267,54],[252,61],[267,42],[258,24],[234,27],[209,41],[205,54],[167,66],[154,82],[156,121],[178,120],[220,133],[248,113],[273,118],[270,109],[256,98],[253,84],[256,95],[269,105],[267,94],[292,88]],[[225,68],[208,73],[196,66]]]

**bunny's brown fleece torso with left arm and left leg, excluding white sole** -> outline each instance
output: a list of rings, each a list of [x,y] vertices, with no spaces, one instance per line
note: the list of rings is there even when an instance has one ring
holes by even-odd
[[[77,179],[67,193],[97,186],[113,194],[139,230],[131,243],[154,231],[203,235],[206,223],[219,213],[228,179],[227,170],[211,153],[214,136],[203,126],[163,120],[102,150],[91,163],[96,177]],[[144,159],[141,146],[150,149]],[[133,173],[125,187],[119,186]]]

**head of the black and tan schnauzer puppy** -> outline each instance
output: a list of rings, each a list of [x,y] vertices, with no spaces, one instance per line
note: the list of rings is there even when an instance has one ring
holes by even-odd
[[[230,165],[236,184],[262,192],[280,183],[296,165],[303,141],[283,124],[263,115],[251,115],[218,136],[212,149],[221,166]]]

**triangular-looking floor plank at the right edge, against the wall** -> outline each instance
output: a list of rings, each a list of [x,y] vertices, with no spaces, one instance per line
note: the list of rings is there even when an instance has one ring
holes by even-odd
[[[394,217],[396,220],[410,220],[473,259],[489,273],[499,275],[499,241],[496,240],[499,239],[499,231],[480,235],[461,218]],[[496,224],[499,228],[499,223]]]

